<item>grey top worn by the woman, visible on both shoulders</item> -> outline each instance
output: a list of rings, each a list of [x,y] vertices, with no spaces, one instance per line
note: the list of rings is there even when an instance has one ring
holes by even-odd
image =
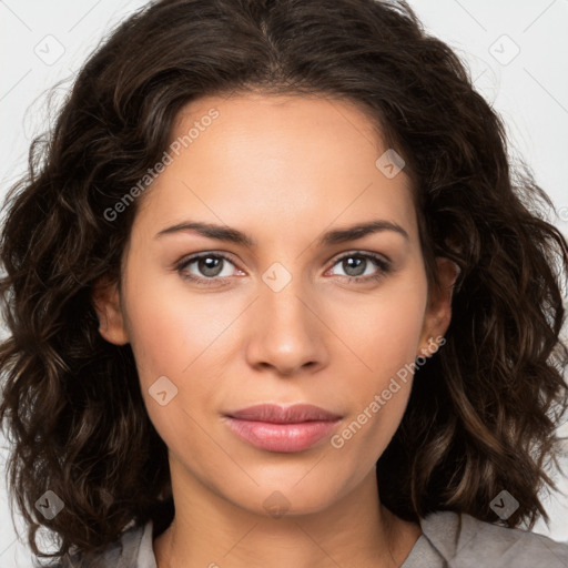
[[[423,534],[400,568],[567,568],[568,544],[523,529],[484,523],[466,514],[437,511],[420,519]],[[135,525],[104,554],[72,558],[50,568],[158,568],[153,525]]]

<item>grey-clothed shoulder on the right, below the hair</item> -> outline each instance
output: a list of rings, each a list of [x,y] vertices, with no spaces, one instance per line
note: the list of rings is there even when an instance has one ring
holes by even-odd
[[[459,567],[566,568],[568,544],[466,514],[436,511],[420,523],[424,536],[446,561]],[[457,562],[457,564],[456,564]]]

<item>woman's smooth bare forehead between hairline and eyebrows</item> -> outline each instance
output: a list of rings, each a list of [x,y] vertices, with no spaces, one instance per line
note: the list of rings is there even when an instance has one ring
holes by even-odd
[[[297,233],[381,216],[415,231],[409,179],[385,175],[389,149],[353,102],[205,97],[179,112],[169,144],[178,152],[143,196],[139,222],[191,215],[274,233],[277,221]]]

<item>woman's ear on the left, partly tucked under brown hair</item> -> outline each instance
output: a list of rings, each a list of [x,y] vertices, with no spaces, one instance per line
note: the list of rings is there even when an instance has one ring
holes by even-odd
[[[99,333],[114,345],[129,343],[116,284],[101,276],[93,285],[91,302],[99,317]]]

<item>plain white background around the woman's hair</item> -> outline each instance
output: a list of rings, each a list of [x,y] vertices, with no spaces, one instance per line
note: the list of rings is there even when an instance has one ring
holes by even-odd
[[[0,0],[0,200],[24,173],[31,138],[48,125],[47,89],[67,79],[57,91],[60,101],[101,38],[144,3]],[[410,6],[468,62],[476,88],[507,124],[511,151],[534,169],[559,210],[552,221],[567,234],[568,0],[410,0]],[[561,432],[568,435],[568,427]],[[0,445],[0,568],[29,568],[29,552],[12,529],[6,440]],[[567,480],[560,487],[568,493]],[[546,503],[552,523],[535,530],[568,541],[568,498],[557,495]]]

